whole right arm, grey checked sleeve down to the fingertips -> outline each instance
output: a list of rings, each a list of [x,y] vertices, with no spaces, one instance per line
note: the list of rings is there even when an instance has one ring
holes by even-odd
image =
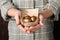
[[[58,14],[60,13],[60,0],[50,0],[49,3],[44,6],[44,10],[40,11],[39,15],[39,24],[35,26],[31,26],[27,32],[35,32],[39,28],[44,25],[44,19],[50,18],[51,16],[55,16],[55,20],[58,20]],[[42,25],[43,24],[43,25]]]

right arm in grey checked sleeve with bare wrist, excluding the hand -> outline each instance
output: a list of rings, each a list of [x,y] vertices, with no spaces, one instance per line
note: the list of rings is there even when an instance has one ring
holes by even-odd
[[[45,18],[49,18],[54,15],[54,20],[58,20],[58,14],[60,10],[60,0],[50,0],[49,3],[45,6],[45,10],[42,11],[42,15]]]

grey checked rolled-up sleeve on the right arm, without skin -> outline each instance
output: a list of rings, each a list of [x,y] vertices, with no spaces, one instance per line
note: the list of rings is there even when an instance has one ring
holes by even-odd
[[[49,2],[44,6],[44,8],[51,9],[54,13],[54,21],[59,20],[59,13],[60,13],[60,0],[49,0]]]

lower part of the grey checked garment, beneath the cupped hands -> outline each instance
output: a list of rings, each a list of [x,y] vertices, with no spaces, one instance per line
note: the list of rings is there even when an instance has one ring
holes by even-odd
[[[9,22],[9,40],[54,40],[53,22],[45,20],[44,26],[35,33],[28,34],[20,30],[15,21]]]

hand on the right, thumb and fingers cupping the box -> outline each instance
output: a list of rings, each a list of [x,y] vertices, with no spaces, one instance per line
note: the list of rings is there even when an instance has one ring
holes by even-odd
[[[40,29],[42,26],[44,25],[44,17],[43,15],[39,15],[39,24],[35,25],[35,26],[30,26],[29,28],[27,28],[27,33],[33,33],[36,30]]]

